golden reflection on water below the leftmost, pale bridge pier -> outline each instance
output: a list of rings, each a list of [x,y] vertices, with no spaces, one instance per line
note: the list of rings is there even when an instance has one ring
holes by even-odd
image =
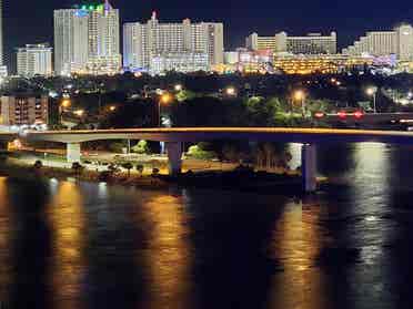
[[[79,285],[84,269],[83,200],[73,183],[59,183],[48,208],[52,230],[51,285],[56,308],[79,308]]]

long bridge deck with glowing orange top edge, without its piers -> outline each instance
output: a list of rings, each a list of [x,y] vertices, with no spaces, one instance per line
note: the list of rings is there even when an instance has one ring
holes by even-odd
[[[159,142],[205,142],[213,140],[248,140],[284,143],[360,143],[413,144],[413,132],[298,128],[298,127],[173,127],[118,128],[27,132],[28,141],[83,143],[100,140],[148,140]]]

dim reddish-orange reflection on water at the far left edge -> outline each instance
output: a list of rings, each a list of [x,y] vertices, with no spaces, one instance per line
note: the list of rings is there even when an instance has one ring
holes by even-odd
[[[11,216],[7,187],[7,179],[0,177],[0,300],[7,299],[8,289],[11,281]]]

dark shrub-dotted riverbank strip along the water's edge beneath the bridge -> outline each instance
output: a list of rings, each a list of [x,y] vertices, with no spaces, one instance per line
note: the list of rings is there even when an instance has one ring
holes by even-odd
[[[170,187],[197,187],[214,189],[234,189],[242,192],[271,192],[281,195],[299,195],[302,193],[301,175],[254,172],[239,167],[223,172],[187,172],[179,176],[169,175],[128,175],[127,172],[110,173],[80,168],[34,167],[17,158],[10,158],[0,165],[0,175],[20,178],[57,178],[67,181],[74,178],[84,182],[104,182],[111,185],[135,186],[144,189],[168,189]]]

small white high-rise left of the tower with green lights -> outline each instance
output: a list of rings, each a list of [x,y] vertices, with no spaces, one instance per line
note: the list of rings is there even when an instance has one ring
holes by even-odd
[[[18,75],[31,78],[52,74],[52,48],[49,44],[27,44],[17,51]]]

